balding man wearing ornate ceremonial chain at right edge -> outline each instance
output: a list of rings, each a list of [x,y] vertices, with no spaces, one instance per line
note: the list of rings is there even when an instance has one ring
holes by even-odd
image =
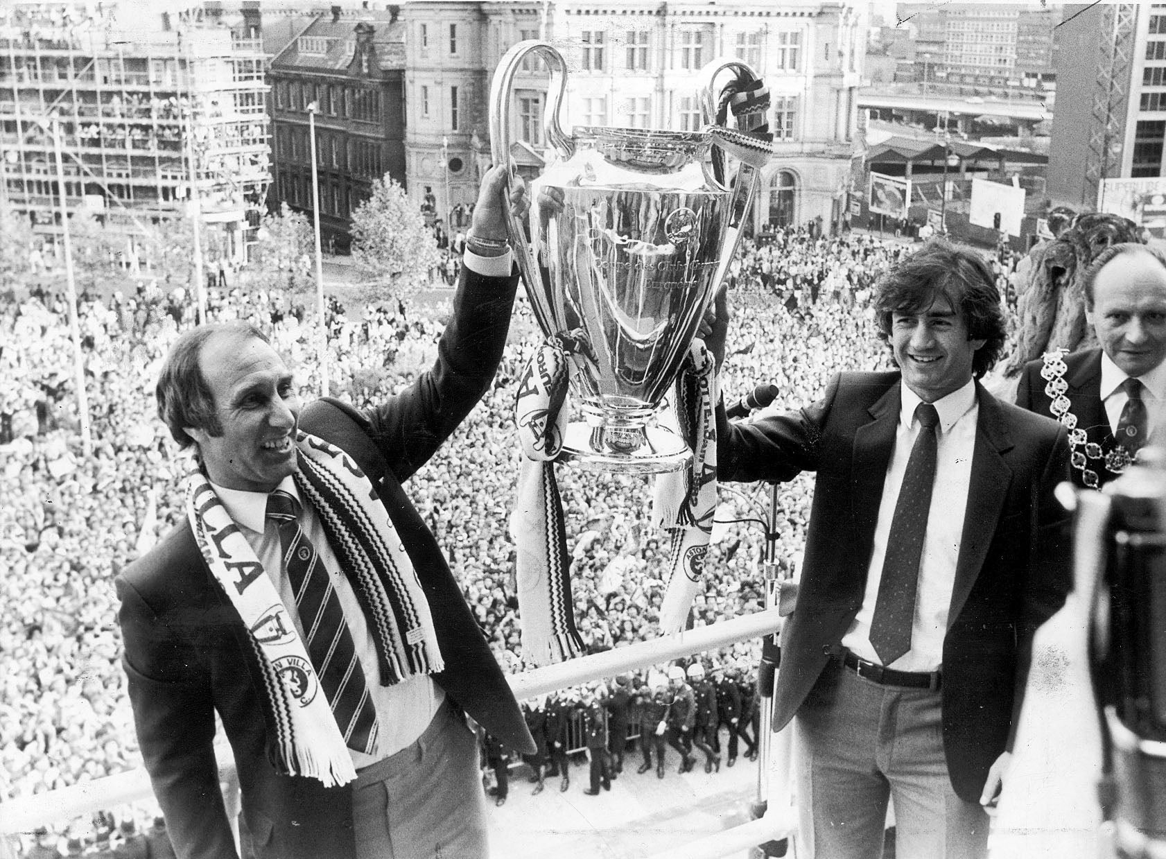
[[[1101,488],[1163,423],[1166,403],[1166,253],[1111,245],[1082,277],[1100,347],[1025,365],[1017,406],[1067,422],[1073,483]]]

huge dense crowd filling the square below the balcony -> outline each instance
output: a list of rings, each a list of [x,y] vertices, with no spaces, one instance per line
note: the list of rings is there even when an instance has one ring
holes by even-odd
[[[872,336],[866,302],[873,280],[899,253],[898,245],[870,237],[812,238],[802,231],[779,231],[764,245],[746,244],[731,274],[736,316],[730,342],[736,351],[721,379],[726,401],[772,381],[780,390],[777,406],[800,406],[813,401],[835,371],[885,366],[888,353]],[[345,312],[332,302],[326,321],[331,392],[364,407],[408,383],[433,358],[442,312],[422,318],[396,302]],[[525,303],[518,312],[529,317]],[[184,515],[177,487],[184,465],[154,415],[153,385],[163,355],[194,315],[182,293],[138,290],[110,301],[82,301],[86,428],[69,360],[64,300],[38,293],[0,307],[0,491],[7,499],[0,508],[0,564],[8,571],[0,582],[6,603],[0,621],[0,801],[140,765],[119,663],[113,577]],[[212,293],[209,315],[254,321],[295,365],[298,385],[319,389],[312,314],[283,296],[236,288]],[[526,330],[534,330],[526,322]],[[506,527],[518,474],[512,410],[515,381],[535,345],[533,337],[512,337],[491,390],[454,443],[409,481],[416,508],[437,535],[499,662],[511,671],[527,664],[514,596],[514,545]],[[85,429],[89,450],[82,442]],[[647,521],[651,483],[627,474],[561,474],[574,603],[588,652],[658,635],[668,540]],[[754,515],[751,506],[760,495],[730,490],[722,493],[719,517]],[[810,483],[799,478],[777,492],[779,557],[794,568],[805,541]],[[761,607],[764,538],[747,524],[717,527],[693,608],[695,625]],[[721,680],[737,682],[742,691],[752,685],[757,650],[756,642],[736,645],[691,666],[673,666],[672,673],[687,678],[691,674],[686,668],[701,666],[710,680],[694,680],[708,684],[724,671]],[[654,752],[652,762],[662,767],[666,742],[686,765],[694,748],[703,752],[701,745],[718,755],[728,688],[714,696],[717,726],[709,717],[700,740],[691,727],[665,725],[655,733],[656,692],[675,698],[696,691],[675,677],[661,685],[655,675],[668,670],[566,690],[549,702],[527,702],[528,712],[534,721],[540,710],[548,721],[552,710],[576,713],[571,718],[584,726],[584,745],[599,748],[597,735],[589,739],[588,733],[598,731],[596,713],[603,711],[604,754],[592,755],[600,761],[592,789],[619,774],[626,745],[619,738],[627,737],[628,724],[647,742],[645,766]],[[566,740],[552,734],[554,730],[543,733],[546,759],[527,761],[538,779],[567,774],[566,758],[556,761],[554,751]],[[756,730],[752,739],[747,731],[730,734],[730,759],[738,735],[746,752],[756,740]],[[490,754],[489,742],[486,747],[486,759],[497,760],[499,754]],[[705,753],[704,762],[711,767],[712,760]],[[497,782],[494,790],[497,795]],[[68,829],[52,828],[45,839],[66,845],[70,837],[84,836],[92,845],[98,832],[112,831],[115,843],[122,823],[148,830],[155,816],[156,809],[145,802],[117,809],[94,826],[73,822]]]

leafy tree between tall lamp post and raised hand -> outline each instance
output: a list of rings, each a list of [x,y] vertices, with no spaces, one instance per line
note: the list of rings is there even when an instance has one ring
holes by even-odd
[[[352,256],[373,280],[365,296],[403,297],[429,283],[429,270],[441,262],[433,232],[426,228],[405,189],[389,175],[373,183],[372,196],[352,212]]]

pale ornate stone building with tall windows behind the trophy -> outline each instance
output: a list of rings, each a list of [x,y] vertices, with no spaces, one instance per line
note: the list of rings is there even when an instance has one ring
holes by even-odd
[[[701,68],[717,57],[747,62],[770,89],[779,148],[763,174],[754,227],[829,228],[842,219],[865,37],[856,5],[414,0],[401,14],[408,189],[419,204],[431,195],[442,218],[452,213],[456,224],[490,162],[486,104],[503,54],[519,41],[545,38],[570,69],[567,129],[697,129]],[[515,78],[511,133],[512,154],[533,166],[549,154],[547,87],[547,71],[532,58]]]

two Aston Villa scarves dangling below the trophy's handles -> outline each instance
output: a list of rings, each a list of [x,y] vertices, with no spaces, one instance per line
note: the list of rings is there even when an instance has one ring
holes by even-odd
[[[522,445],[511,538],[518,549],[522,654],[535,664],[571,659],[583,650],[575,627],[570,554],[554,462],[563,446],[570,382],[567,338],[545,342],[519,383],[514,422]],[[656,478],[653,521],[673,531],[672,575],[661,606],[665,633],[683,627],[704,569],[716,512],[715,361],[704,343],[689,347],[676,380],[676,418],[694,450],[691,467]]]

